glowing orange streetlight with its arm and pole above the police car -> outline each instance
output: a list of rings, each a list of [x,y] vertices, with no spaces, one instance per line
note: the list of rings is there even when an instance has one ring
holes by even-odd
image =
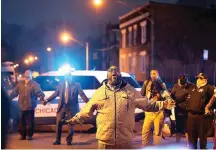
[[[80,41],[78,41],[77,39],[75,39],[74,37],[72,37],[69,33],[64,32],[60,35],[60,39],[62,42],[64,42],[65,44],[68,43],[69,41],[75,41],[76,43],[78,43],[79,45],[83,46],[86,48],[86,70],[89,69],[89,44],[88,42],[86,42],[85,44],[81,43]]]

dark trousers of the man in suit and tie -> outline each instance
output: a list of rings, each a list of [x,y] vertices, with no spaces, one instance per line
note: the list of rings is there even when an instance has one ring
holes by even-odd
[[[67,119],[71,119],[73,117],[71,110],[67,110],[66,108],[61,108],[61,110],[57,113],[56,118],[56,140],[61,141],[62,134],[62,119],[65,119],[65,115],[67,115]],[[73,138],[73,125],[68,124],[68,136],[66,138],[67,142],[71,142]]]

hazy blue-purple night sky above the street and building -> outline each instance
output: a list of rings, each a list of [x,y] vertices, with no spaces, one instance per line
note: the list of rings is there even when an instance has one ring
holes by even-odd
[[[7,50],[11,50],[14,54],[14,58],[11,56],[11,59],[22,61],[25,57],[23,55],[33,51],[41,53],[38,56],[41,60],[44,57],[45,60],[46,47],[51,45],[54,49],[61,49],[58,36],[62,29],[68,30],[81,42],[95,37],[99,39],[98,37],[103,36],[101,33],[105,32],[105,25],[108,22],[119,23],[119,16],[146,4],[149,0],[121,0],[127,6],[119,4],[118,0],[102,1],[102,6],[96,8],[93,0],[1,0],[2,39],[4,42],[9,41],[9,44],[5,42],[5,45],[8,46]],[[194,5],[194,0],[154,0],[154,2]],[[216,0],[196,0],[199,6],[206,6],[207,2],[216,6]],[[71,43],[71,45],[79,50],[76,48],[78,44]],[[95,48],[95,45],[93,46]],[[84,52],[83,50],[83,54]],[[78,56],[73,57],[78,58]]]

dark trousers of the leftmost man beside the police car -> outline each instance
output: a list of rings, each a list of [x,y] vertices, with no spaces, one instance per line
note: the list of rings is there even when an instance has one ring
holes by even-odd
[[[34,110],[20,111],[19,113],[19,132],[25,137],[34,134]]]

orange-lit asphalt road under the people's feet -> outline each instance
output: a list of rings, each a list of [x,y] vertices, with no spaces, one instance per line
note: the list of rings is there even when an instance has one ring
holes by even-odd
[[[141,148],[141,129],[142,123],[137,122],[135,127],[133,148]],[[97,140],[95,139],[95,133],[76,131],[73,137],[73,145],[68,146],[66,144],[67,133],[62,134],[61,145],[52,145],[55,140],[54,132],[36,132],[34,134],[34,140],[20,141],[19,134],[9,134],[7,148],[9,149],[95,149],[97,148]],[[208,139],[208,148],[212,149],[213,138]],[[186,147],[185,138],[182,138],[180,144],[175,143],[175,137],[171,137],[168,140],[162,139],[160,146],[151,146],[149,149],[188,149]]]

